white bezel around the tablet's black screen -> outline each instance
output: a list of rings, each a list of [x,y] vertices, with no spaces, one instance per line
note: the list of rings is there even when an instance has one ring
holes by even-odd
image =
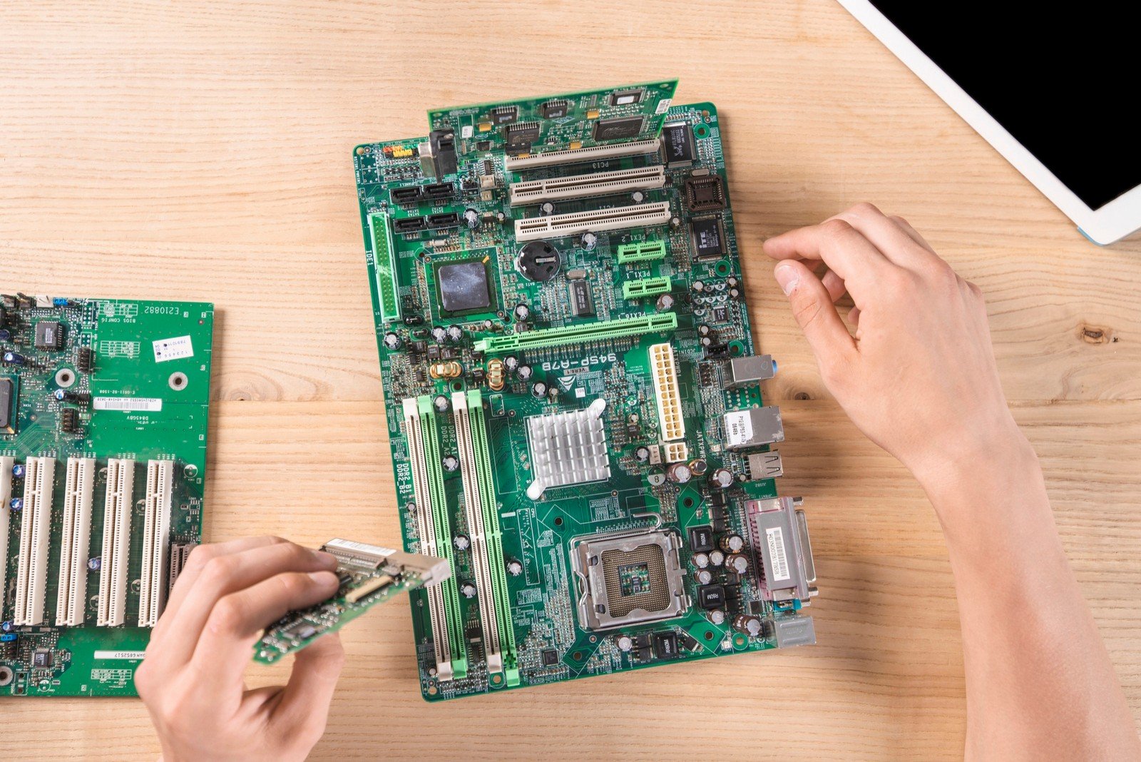
[[[1127,190],[1100,209],[1090,209],[868,0],[837,0],[837,2],[915,72],[1046,198],[1074,220],[1084,236],[1098,244],[1109,244],[1141,229],[1141,186]]]

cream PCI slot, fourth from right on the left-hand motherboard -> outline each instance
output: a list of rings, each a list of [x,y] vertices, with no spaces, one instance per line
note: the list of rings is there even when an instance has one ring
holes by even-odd
[[[43,624],[43,594],[48,582],[48,540],[56,459],[29,457],[24,462],[24,508],[19,528],[16,572],[16,611],[13,624]]]

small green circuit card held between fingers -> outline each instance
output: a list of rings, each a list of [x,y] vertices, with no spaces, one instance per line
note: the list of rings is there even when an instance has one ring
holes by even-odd
[[[321,550],[337,557],[340,589],[323,603],[290,611],[266,627],[265,635],[254,647],[253,658],[258,662],[273,664],[317,638],[337,632],[377,603],[424,585],[438,584],[451,575],[447,561],[434,556],[337,538],[330,540]]]

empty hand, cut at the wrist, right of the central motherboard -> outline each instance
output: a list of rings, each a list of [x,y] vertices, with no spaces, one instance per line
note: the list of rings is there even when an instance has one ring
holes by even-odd
[[[899,217],[858,204],[764,242],[825,386],[925,487],[966,459],[1022,445],[1006,407],[982,293]],[[814,268],[828,267],[823,278]],[[844,292],[855,335],[834,301]]]

